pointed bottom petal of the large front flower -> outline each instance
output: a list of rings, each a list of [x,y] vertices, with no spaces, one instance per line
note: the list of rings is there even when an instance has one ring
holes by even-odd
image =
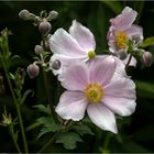
[[[114,113],[102,103],[90,103],[87,112],[91,121],[102,130],[118,133]]]

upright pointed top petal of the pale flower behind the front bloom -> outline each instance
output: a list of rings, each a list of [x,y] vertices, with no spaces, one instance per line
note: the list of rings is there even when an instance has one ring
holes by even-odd
[[[96,41],[94,34],[89,29],[81,25],[76,20],[73,21],[72,26],[69,28],[69,34],[78,42],[80,47],[85,50],[87,53],[89,51],[95,51]]]

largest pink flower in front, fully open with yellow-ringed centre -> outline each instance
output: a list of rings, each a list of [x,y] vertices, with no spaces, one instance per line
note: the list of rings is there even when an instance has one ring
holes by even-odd
[[[118,133],[116,114],[130,116],[135,110],[135,85],[116,72],[112,56],[76,63],[58,76],[66,89],[56,112],[63,119],[79,121],[86,111],[102,130]]]

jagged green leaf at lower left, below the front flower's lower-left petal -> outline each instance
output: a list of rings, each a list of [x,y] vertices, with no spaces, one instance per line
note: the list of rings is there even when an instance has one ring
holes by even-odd
[[[42,117],[38,118],[36,121],[40,122],[40,124],[43,124],[43,128],[41,129],[37,139],[46,133],[56,132],[62,129],[58,123],[54,122],[52,117]]]

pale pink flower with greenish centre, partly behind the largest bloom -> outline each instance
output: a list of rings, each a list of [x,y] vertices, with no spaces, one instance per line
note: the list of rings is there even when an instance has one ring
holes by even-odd
[[[62,63],[61,69],[53,70],[55,75],[61,74],[72,62],[87,62],[89,58],[96,56],[96,41],[94,34],[76,20],[73,21],[69,33],[64,29],[58,29],[51,36],[50,48],[54,53],[51,57],[51,64],[55,59]]]

